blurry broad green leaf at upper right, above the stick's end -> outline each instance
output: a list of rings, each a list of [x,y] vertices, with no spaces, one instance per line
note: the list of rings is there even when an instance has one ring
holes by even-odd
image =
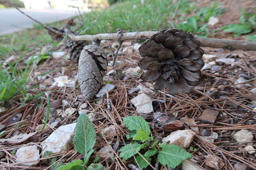
[[[252,31],[250,24],[231,24],[222,27],[224,32],[234,32],[237,34],[247,34]]]

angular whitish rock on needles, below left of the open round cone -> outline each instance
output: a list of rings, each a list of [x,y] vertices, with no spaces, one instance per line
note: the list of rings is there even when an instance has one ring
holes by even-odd
[[[131,99],[131,103],[136,107],[138,113],[150,113],[153,111],[152,100],[147,94],[140,94]]]

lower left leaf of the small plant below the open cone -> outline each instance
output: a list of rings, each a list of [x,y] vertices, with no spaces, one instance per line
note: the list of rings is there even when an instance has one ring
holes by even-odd
[[[143,145],[138,143],[129,143],[128,145],[123,146],[120,148],[120,157],[124,158],[125,160],[131,158],[133,155],[136,155]]]

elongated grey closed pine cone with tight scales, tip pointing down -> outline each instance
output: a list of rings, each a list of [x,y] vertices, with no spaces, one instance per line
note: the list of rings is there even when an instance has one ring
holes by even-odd
[[[79,84],[84,100],[91,100],[100,89],[107,70],[107,55],[96,45],[84,46],[78,63]]]

